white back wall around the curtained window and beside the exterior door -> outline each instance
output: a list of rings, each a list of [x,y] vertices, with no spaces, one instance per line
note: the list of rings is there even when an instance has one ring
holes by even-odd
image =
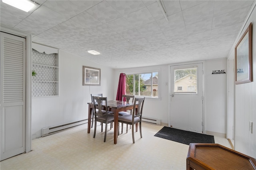
[[[209,86],[205,88],[205,130],[206,132],[222,137],[226,137],[226,74],[212,75],[212,70],[226,70],[226,62],[226,59],[209,60],[205,62],[206,66],[204,67],[205,86]],[[167,126],[170,113],[168,109],[168,97],[170,94],[168,92],[168,85],[166,85],[166,83],[170,82],[170,77],[168,77],[168,65],[116,69],[114,72],[114,93],[116,95],[120,73],[136,73],[155,70],[160,70],[159,82],[161,83],[161,86],[159,94],[161,97],[160,99],[145,99],[143,116],[161,119],[162,123],[165,123]]]

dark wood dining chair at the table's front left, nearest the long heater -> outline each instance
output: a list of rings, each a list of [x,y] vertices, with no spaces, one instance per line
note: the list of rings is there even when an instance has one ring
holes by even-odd
[[[108,99],[107,97],[97,97],[93,96],[92,97],[93,105],[94,105],[94,134],[93,138],[95,138],[96,135],[96,128],[97,128],[97,122],[100,123],[105,123],[105,137],[104,137],[104,142],[106,142],[106,136],[107,136],[107,128],[109,123],[114,122],[114,112],[108,111]],[[105,102],[105,106],[102,106],[102,103]],[[98,110],[96,109],[98,107]],[[106,110],[104,110],[105,108]],[[111,126],[110,126],[111,129]],[[101,129],[102,132],[102,129]]]

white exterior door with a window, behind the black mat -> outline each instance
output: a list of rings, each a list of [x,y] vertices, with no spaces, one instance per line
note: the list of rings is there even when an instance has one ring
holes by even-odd
[[[170,125],[203,132],[203,63],[170,68]]]

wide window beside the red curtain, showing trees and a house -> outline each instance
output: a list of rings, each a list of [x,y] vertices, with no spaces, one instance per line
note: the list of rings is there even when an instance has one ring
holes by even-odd
[[[126,94],[158,97],[158,72],[126,74]]]

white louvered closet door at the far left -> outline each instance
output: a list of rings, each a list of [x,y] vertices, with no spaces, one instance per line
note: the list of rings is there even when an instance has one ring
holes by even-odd
[[[26,40],[0,33],[1,160],[25,152]]]

